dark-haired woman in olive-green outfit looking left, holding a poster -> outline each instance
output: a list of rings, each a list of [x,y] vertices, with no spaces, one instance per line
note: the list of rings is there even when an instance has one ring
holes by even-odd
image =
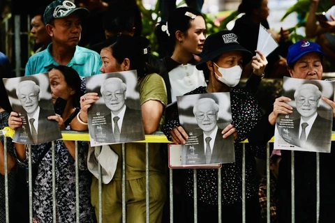
[[[101,72],[121,72],[137,70],[137,86],[140,91],[140,103],[144,133],[151,134],[161,130],[167,105],[167,95],[163,78],[148,63],[149,41],[142,36],[121,35],[112,45],[101,50],[103,66]],[[80,123],[73,123],[75,130],[87,130],[87,111],[98,100],[97,93],[82,96]],[[140,117],[137,117],[140,118]],[[133,126],[126,126],[131,132]],[[122,130],[121,130],[122,131]],[[146,183],[145,144],[127,143],[126,146],[126,222],[146,221]],[[112,144],[110,148],[119,156],[117,169],[110,183],[103,184],[103,222],[121,222],[122,220],[122,152],[121,144]],[[161,222],[166,194],[166,166],[160,144],[149,144],[149,214],[150,222]],[[92,204],[98,213],[98,179],[91,186]]]

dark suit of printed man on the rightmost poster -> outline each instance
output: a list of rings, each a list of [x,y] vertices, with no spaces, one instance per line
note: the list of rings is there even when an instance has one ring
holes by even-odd
[[[329,151],[332,139],[332,121],[326,118],[322,118],[318,115],[315,118],[315,121],[311,127],[311,131],[309,132],[306,138],[306,143],[304,143],[304,145],[301,145],[301,142],[299,141],[299,129],[301,128],[301,126],[299,126],[300,118],[294,120],[293,123],[294,128],[290,129],[290,132],[288,133],[290,137],[283,137],[285,133],[281,132],[281,136],[285,141],[294,146],[302,147],[306,151]]]

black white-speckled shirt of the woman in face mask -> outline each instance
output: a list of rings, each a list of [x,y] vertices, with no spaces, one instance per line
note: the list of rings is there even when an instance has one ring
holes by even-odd
[[[189,94],[207,93],[206,87],[200,86]],[[230,91],[232,125],[237,130],[238,138],[234,142],[235,162],[223,164],[221,168],[222,203],[237,203],[242,199],[242,144],[248,132],[262,118],[262,109],[251,93],[242,89]],[[170,130],[179,126],[178,111],[174,120],[166,121],[163,132],[172,141]],[[255,169],[255,156],[265,155],[266,144],[246,144],[246,198],[258,196],[258,174]],[[193,170],[187,169],[186,194],[193,197]],[[218,203],[217,169],[198,169],[198,198],[209,204]]]

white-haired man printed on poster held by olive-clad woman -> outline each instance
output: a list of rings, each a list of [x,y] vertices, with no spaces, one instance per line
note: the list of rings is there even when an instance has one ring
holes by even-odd
[[[91,137],[105,143],[143,140],[142,112],[126,105],[127,85],[118,77],[110,77],[103,82],[100,91],[105,102],[101,107],[105,124],[94,125],[93,131],[90,129]],[[97,132],[103,132],[103,137],[97,137]]]

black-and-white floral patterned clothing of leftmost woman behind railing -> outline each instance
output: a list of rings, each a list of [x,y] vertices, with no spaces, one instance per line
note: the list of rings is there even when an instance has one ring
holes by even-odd
[[[70,125],[66,126],[70,130]],[[56,200],[58,222],[76,222],[75,159],[68,152],[64,141],[54,141],[56,164]],[[31,146],[31,162],[35,164],[47,144]],[[80,222],[96,222],[91,206],[91,173],[87,169],[88,143],[78,141]],[[28,150],[27,150],[28,157]],[[25,164],[28,161],[25,160]],[[52,149],[45,154],[38,166],[33,192],[34,222],[52,222]]]

